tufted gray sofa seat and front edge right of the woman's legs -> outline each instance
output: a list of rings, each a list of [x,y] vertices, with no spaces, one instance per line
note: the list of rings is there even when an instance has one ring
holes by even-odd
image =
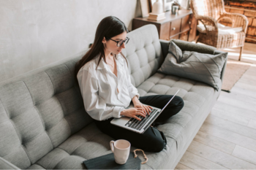
[[[203,82],[159,72],[138,86],[140,96],[173,95],[178,89],[180,91],[177,95],[183,98],[184,108],[178,114],[170,117],[165,124],[157,126],[159,131],[162,131],[167,138],[167,147],[162,152],[159,152],[166,154],[166,156],[161,156],[162,160],[159,160],[159,164],[157,161],[148,161],[148,165],[154,167],[154,169],[165,167],[165,158],[169,158],[169,162],[172,161],[174,163],[176,161],[187,142],[190,143],[191,141],[189,140],[193,139],[191,136],[197,133],[198,128],[200,128],[199,123],[203,123],[206,119],[220,93],[220,90],[214,90],[214,88]],[[154,163],[158,166],[155,166]]]

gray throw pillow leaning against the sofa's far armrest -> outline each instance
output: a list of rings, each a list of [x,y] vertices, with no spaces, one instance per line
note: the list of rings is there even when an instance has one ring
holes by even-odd
[[[182,52],[174,42],[170,42],[168,52],[158,72],[205,82],[219,90],[220,75],[227,53],[211,55],[194,51]]]

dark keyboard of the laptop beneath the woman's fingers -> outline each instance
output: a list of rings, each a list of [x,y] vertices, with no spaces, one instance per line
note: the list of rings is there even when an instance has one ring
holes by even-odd
[[[141,128],[143,128],[143,125],[148,123],[149,118],[156,115],[156,113],[157,113],[157,109],[151,109],[151,111],[152,112],[150,112],[150,115],[146,115],[146,117],[138,116],[140,118],[140,120],[137,120],[133,117],[130,118],[129,121],[125,125],[130,128],[135,128],[140,131]]]

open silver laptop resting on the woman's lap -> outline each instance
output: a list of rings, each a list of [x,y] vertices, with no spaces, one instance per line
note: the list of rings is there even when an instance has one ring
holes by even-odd
[[[176,96],[178,91],[173,95],[172,98],[170,98],[170,100],[167,102],[167,104],[165,104],[165,107],[167,107],[167,105],[170,103],[170,101],[173,100],[174,96]],[[147,105],[147,104],[145,104],[145,105]],[[130,104],[129,107],[127,107],[125,109],[129,109],[132,107],[133,107],[133,104]],[[138,116],[140,118],[140,120],[137,120],[133,117],[124,116],[121,118],[113,118],[113,120],[111,120],[110,123],[112,123],[113,125],[117,125],[121,128],[126,128],[130,131],[135,131],[138,134],[143,134],[148,129],[148,127],[154,122],[154,120],[156,120],[157,117],[162,113],[162,111],[165,109],[165,107],[163,107],[162,109],[159,109],[157,107],[152,107],[153,109],[151,109],[152,112],[150,112],[150,115],[146,115],[146,117]]]

